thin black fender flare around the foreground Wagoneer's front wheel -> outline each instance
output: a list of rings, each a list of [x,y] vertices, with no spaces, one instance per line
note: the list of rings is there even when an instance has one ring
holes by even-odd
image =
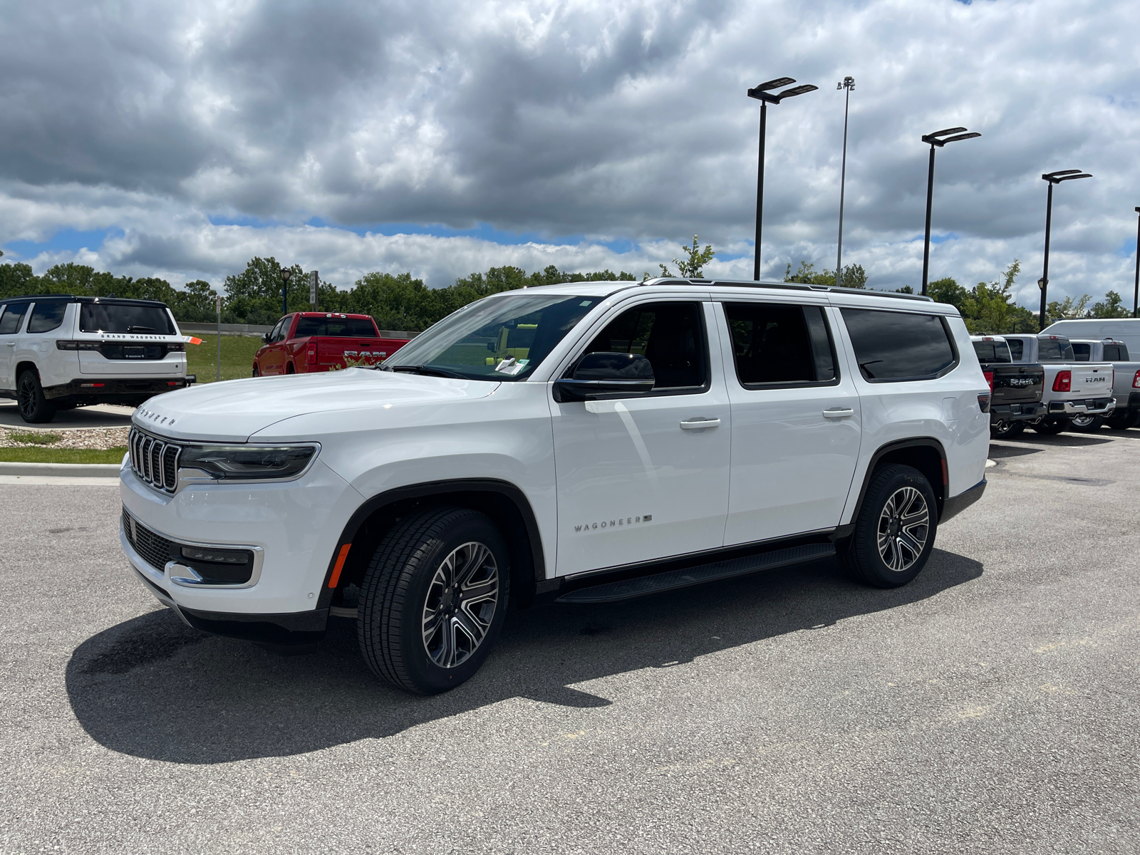
[[[543,539],[538,530],[538,520],[535,516],[535,511],[530,506],[530,500],[521,489],[508,481],[502,481],[495,478],[464,478],[447,481],[426,481],[424,483],[396,487],[391,490],[378,492],[365,500],[349,518],[349,521],[344,524],[344,529],[341,531],[340,538],[336,540],[336,546],[333,548],[333,553],[328,559],[328,568],[325,570],[325,580],[320,588],[320,597],[317,602],[317,608],[323,609],[327,606],[333,598],[335,587],[331,587],[331,583],[341,549],[345,545],[353,543],[353,539],[360,531],[365,521],[368,520],[374,513],[389,505],[414,499],[431,498],[432,496],[447,496],[456,492],[494,494],[510,500],[514,505],[514,508],[518,511],[522,521],[522,527],[530,547],[528,551],[529,554],[524,556],[529,560],[532,570],[530,575],[531,578],[529,580],[529,591],[519,592],[519,594],[522,595],[521,601],[529,604],[534,596],[535,587],[539,583],[546,580],[546,559],[543,554]],[[507,545],[510,547],[510,532],[504,532],[504,535],[507,536]]]

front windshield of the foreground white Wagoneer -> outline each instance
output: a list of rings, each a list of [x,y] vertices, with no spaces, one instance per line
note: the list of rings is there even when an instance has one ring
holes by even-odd
[[[600,300],[522,293],[479,300],[405,344],[384,368],[418,366],[466,380],[524,380]]]

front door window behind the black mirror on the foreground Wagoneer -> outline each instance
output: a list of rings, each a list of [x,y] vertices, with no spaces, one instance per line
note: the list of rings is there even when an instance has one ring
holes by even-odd
[[[700,303],[645,303],[621,312],[583,353],[641,353],[653,366],[653,389],[699,389],[708,382],[708,345]]]

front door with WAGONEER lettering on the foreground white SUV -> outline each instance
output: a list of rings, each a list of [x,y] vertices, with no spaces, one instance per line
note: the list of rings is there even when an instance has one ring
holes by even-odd
[[[720,546],[731,424],[710,318],[711,304],[697,300],[643,303],[577,355],[642,353],[656,385],[645,396],[552,402],[559,576]]]

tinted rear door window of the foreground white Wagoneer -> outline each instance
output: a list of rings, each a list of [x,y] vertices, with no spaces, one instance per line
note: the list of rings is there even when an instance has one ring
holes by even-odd
[[[836,382],[823,309],[785,303],[725,303],[736,377],[744,386]]]

